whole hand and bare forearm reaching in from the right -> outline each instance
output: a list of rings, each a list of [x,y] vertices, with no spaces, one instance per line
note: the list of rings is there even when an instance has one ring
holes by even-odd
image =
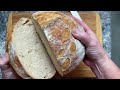
[[[72,32],[73,36],[86,47],[84,63],[90,66],[99,79],[120,79],[120,68],[108,57],[95,33],[84,22],[73,18],[85,30],[74,30]]]

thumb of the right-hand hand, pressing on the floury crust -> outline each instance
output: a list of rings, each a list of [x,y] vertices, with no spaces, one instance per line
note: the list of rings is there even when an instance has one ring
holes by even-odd
[[[90,38],[89,38],[89,35],[86,32],[83,32],[83,31],[80,31],[80,30],[73,30],[72,34],[77,40],[79,40],[83,44],[85,44],[85,46],[89,45]]]

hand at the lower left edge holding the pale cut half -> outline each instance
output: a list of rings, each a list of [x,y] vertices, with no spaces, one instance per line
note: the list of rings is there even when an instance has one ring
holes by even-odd
[[[20,77],[15,73],[15,71],[9,65],[9,56],[6,53],[2,58],[0,58],[0,68],[2,73],[2,79],[19,79]]]

